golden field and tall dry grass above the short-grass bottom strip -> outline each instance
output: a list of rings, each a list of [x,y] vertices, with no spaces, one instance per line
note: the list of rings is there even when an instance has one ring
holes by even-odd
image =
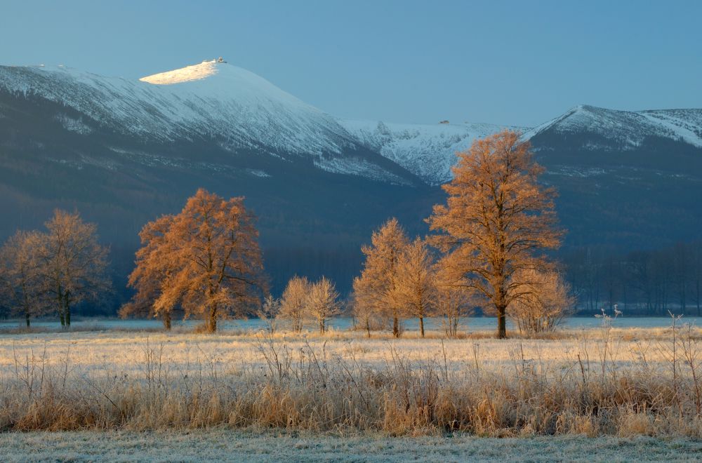
[[[0,429],[702,438],[699,330],[559,337],[8,335]]]

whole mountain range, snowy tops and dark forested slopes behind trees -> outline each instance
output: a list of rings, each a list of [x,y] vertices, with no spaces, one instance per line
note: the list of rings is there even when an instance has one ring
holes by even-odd
[[[536,128],[352,121],[208,60],[142,79],[0,66],[0,238],[60,206],[134,241],[207,187],[246,195],[269,245],[357,250],[390,215],[425,231],[456,152],[503,128],[534,145],[571,243],[702,229],[702,109],[578,106]]]

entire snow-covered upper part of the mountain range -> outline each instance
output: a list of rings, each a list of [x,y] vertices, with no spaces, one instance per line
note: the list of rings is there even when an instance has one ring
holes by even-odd
[[[79,116],[57,114],[55,120],[79,135],[90,135],[97,124],[135,140],[204,140],[225,152],[296,156],[326,172],[392,183],[411,183],[406,171],[428,184],[446,182],[456,152],[503,128],[524,131],[524,140],[537,137],[537,149],[543,148],[541,135],[603,152],[639,149],[647,137],[702,147],[702,109],[627,112],[579,105],[531,130],[355,121],[336,119],[246,69],[216,60],[139,80],[62,66],[0,66],[0,90],[75,109]]]

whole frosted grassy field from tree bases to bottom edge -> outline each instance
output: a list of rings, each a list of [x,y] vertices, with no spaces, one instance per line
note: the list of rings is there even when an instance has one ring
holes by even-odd
[[[672,380],[670,321],[624,318],[606,330],[593,319],[576,318],[538,340],[492,339],[490,318],[470,319],[472,334],[458,340],[442,340],[439,330],[428,339],[413,330],[399,340],[367,339],[342,330],[345,319],[325,336],[273,337],[256,321],[227,323],[216,335],[192,333],[192,323],[172,333],[156,321],[81,321],[65,332],[44,322],[32,333],[5,323],[0,455],[8,462],[698,461],[702,420],[691,392],[698,383],[682,363]],[[687,333],[697,349],[702,330]]]

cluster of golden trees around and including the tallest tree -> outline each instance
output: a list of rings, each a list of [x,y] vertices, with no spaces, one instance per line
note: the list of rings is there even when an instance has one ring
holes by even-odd
[[[445,205],[428,218],[435,234],[409,243],[392,219],[363,248],[366,261],[354,281],[354,310],[369,328],[371,317],[442,314],[455,334],[458,317],[479,297],[505,337],[508,308],[520,330],[552,328],[571,306],[563,283],[543,250],[559,246],[555,191],[537,182],[543,168],[529,144],[505,130],[458,155],[453,180],[443,186]],[[435,257],[427,244],[439,251]]]

